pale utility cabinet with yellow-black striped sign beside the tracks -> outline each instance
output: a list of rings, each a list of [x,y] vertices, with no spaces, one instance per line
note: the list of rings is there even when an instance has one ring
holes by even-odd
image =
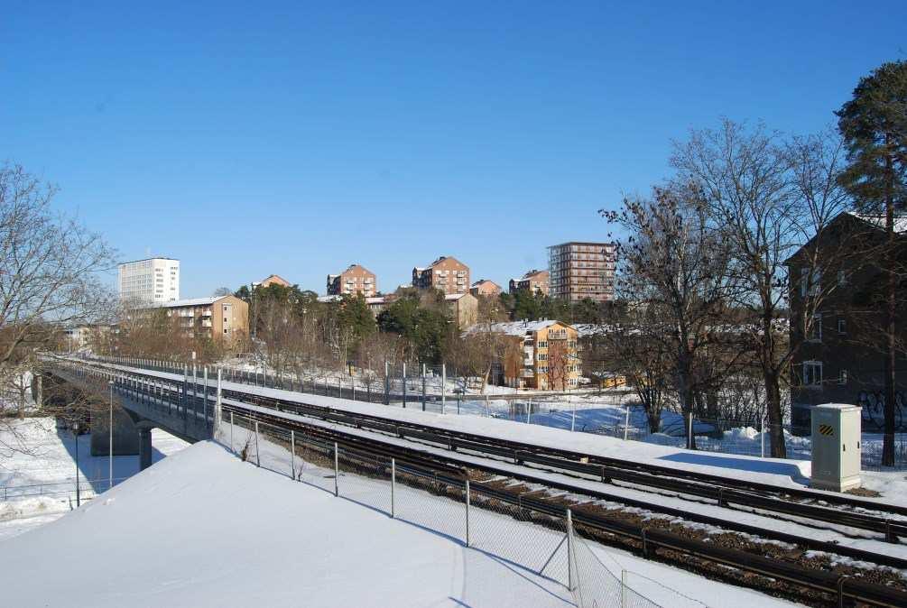
[[[860,487],[861,410],[846,403],[813,406],[810,487],[834,492]]]

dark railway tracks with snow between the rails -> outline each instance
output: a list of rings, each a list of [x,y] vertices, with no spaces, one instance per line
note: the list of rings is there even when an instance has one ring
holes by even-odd
[[[120,370],[127,372],[127,370]],[[146,372],[129,370],[133,378],[147,376]],[[155,393],[155,399],[185,405],[189,407],[203,400],[199,397],[193,403],[191,396],[186,391],[185,383],[181,376],[167,374],[167,381]],[[155,372],[152,378],[161,380],[161,372]],[[891,516],[902,516],[900,507],[879,505],[873,501],[865,501],[851,497],[829,497],[824,493],[808,490],[779,489],[764,484],[745,482],[743,486],[736,481],[718,476],[704,475],[690,471],[678,471],[673,468],[648,467],[639,463],[628,463],[617,458],[595,458],[582,455],[578,452],[561,449],[548,449],[521,442],[501,441],[483,437],[472,433],[436,429],[425,425],[388,420],[380,416],[360,414],[330,408],[323,405],[300,402],[305,395],[293,395],[292,399],[278,399],[267,394],[261,394],[261,387],[227,386],[223,391],[225,411],[234,410],[243,416],[251,416],[270,424],[277,424],[288,428],[296,428],[307,433],[308,436],[317,438],[327,443],[336,442],[345,450],[354,450],[356,453],[370,458],[395,458],[405,463],[407,467],[423,471],[427,476],[441,476],[446,482],[455,482],[464,478],[470,472],[480,471],[486,475],[503,478],[512,478],[523,484],[533,484],[542,487],[570,492],[595,500],[605,500],[612,503],[621,503],[629,507],[644,508],[649,511],[667,516],[676,516],[686,521],[703,523],[718,528],[733,530],[747,535],[759,536],[777,540],[791,545],[801,546],[807,550],[822,551],[824,553],[843,555],[852,559],[870,562],[877,565],[887,565],[900,570],[907,570],[907,560],[890,555],[876,554],[873,552],[854,549],[852,547],[836,545],[825,541],[814,540],[805,536],[795,536],[777,531],[766,530],[757,526],[747,526],[723,518],[690,514],[680,509],[664,507],[656,503],[639,501],[627,497],[616,496],[604,489],[592,490],[589,487],[578,487],[565,481],[556,481],[547,477],[540,477],[526,471],[527,466],[549,468],[559,473],[573,473],[584,478],[596,478],[600,481],[614,483],[619,481],[630,487],[651,487],[653,489],[686,494],[706,499],[715,500],[717,504],[743,504],[747,507],[762,509],[769,512],[790,513],[791,509],[798,509],[796,516],[813,518],[816,521],[829,522],[852,526],[863,530],[879,532],[889,540],[896,540],[904,534],[904,524],[892,521]],[[297,418],[289,418],[288,414]],[[303,420],[305,417],[309,420]],[[329,425],[335,425],[331,428]],[[337,428],[341,425],[345,429]],[[371,436],[366,436],[369,433]],[[385,437],[378,438],[375,434]],[[403,445],[403,442],[419,442],[419,447]],[[440,453],[439,453],[440,452]],[[460,453],[458,453],[460,452]],[[481,458],[471,456],[476,454]],[[499,464],[489,461],[497,458]],[[500,459],[512,460],[512,463],[501,463]],[[484,459],[485,462],[480,460]],[[519,467],[517,467],[517,465]],[[523,470],[516,470],[522,468]],[[661,477],[659,477],[661,476]],[[669,476],[669,477],[668,477]],[[717,486],[714,482],[727,482]],[[713,483],[709,487],[709,482]],[[717,487],[716,487],[717,486]],[[481,487],[481,486],[476,486]],[[514,506],[532,507],[540,512],[563,514],[564,507],[561,503],[546,497],[526,497],[525,493],[512,495],[504,489],[481,487],[486,496],[501,500]],[[757,492],[763,492],[763,495]],[[814,507],[796,503],[790,499],[780,497],[793,497],[800,500],[824,500],[827,504],[838,504],[850,507],[851,511],[844,511],[834,515],[833,509]],[[831,498],[831,499],[829,499]],[[809,508],[805,508],[809,507]],[[888,508],[891,507],[891,508]],[[805,509],[805,510],[804,510]],[[883,513],[888,517],[872,516],[859,512],[860,509]],[[805,515],[806,514],[806,515]],[[645,555],[658,554],[662,559],[668,555],[685,555],[688,558],[703,560],[711,564],[721,564],[737,570],[746,571],[774,580],[785,581],[788,584],[802,585],[822,594],[831,594],[839,601],[866,603],[869,605],[903,606],[907,605],[907,593],[900,589],[869,583],[856,577],[840,576],[839,574],[817,571],[804,568],[800,565],[788,564],[777,559],[762,555],[739,551],[712,543],[702,542],[680,536],[670,531],[653,529],[647,526],[634,525],[608,516],[598,516],[577,511],[574,521],[583,529],[590,531],[592,536],[604,535],[619,537],[629,541],[631,545],[638,545],[638,549]]]

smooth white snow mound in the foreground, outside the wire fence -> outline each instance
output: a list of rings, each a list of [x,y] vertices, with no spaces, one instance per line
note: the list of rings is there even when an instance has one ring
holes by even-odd
[[[528,529],[513,535],[515,542],[533,537]],[[5,603],[16,606],[574,605],[551,579],[256,468],[211,442],[166,458],[3,549],[0,572],[16,581],[5,589]],[[672,595],[664,605],[789,605],[600,551],[631,570],[635,584],[667,581],[689,596],[678,603]]]

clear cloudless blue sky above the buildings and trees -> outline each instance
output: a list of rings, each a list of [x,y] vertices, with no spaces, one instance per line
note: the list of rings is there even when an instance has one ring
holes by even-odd
[[[132,4],[7,0],[0,159],[184,297],[440,255],[504,285],[690,128],[820,130],[907,58],[903,2]]]

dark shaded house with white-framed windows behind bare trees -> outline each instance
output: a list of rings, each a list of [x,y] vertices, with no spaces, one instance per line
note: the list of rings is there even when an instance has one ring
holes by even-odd
[[[900,233],[899,264],[907,260],[907,217],[896,217]],[[842,213],[787,261],[790,298],[790,341],[795,354],[791,369],[791,405],[795,425],[809,424],[809,406],[852,403],[863,407],[863,430],[883,429],[884,356],[876,331],[883,326],[885,274],[881,255],[873,250],[884,242],[884,217]],[[830,257],[821,273],[808,276],[806,262],[815,247],[825,252],[860,252]],[[821,252],[823,249],[819,249]],[[901,288],[903,289],[903,287]],[[818,304],[809,304],[809,298]],[[899,302],[898,317],[907,306]],[[811,315],[812,318],[805,318]],[[907,332],[900,324],[897,343]],[[900,351],[901,349],[899,349]],[[907,428],[907,357],[895,360],[895,424]]]

